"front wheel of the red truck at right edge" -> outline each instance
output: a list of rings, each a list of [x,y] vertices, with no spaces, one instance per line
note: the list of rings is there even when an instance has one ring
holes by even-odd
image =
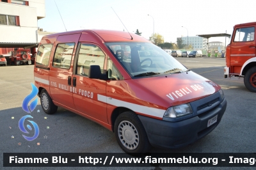
[[[256,93],[256,66],[250,68],[244,76],[244,85],[246,88]]]

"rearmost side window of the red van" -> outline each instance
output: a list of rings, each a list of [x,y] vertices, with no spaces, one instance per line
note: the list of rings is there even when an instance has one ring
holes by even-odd
[[[48,66],[52,51],[52,44],[40,45],[36,54],[36,65]]]

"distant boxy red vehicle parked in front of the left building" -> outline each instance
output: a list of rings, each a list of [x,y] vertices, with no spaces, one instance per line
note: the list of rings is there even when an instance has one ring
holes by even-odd
[[[31,56],[29,49],[17,49],[11,52],[10,65],[31,65]]]

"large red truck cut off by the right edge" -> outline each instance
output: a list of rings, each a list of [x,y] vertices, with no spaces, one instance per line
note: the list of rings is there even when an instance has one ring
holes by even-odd
[[[225,78],[244,77],[244,85],[256,92],[256,22],[237,24],[227,45]]]

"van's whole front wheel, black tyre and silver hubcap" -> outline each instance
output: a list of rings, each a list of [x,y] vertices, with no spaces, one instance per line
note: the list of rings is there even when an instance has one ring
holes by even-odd
[[[145,128],[134,112],[126,111],[120,114],[116,118],[114,129],[116,140],[126,153],[134,155],[150,150],[151,145]]]

